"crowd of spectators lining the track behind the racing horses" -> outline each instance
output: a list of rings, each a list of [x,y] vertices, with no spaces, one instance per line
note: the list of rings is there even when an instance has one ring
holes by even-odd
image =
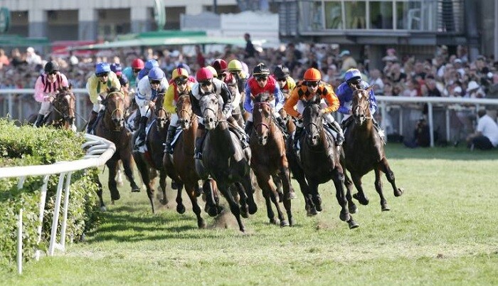
[[[85,56],[70,53],[59,57],[38,55],[33,48],[27,48],[26,51],[14,48],[9,55],[0,49],[0,88],[33,88],[47,60],[58,60],[61,71],[68,76],[73,87],[84,88],[95,63],[100,61],[128,66],[137,57],[143,60],[155,58],[169,77],[180,63],[188,65],[190,72],[195,73],[198,68],[212,63],[216,58],[223,58],[227,62],[236,58],[243,60],[249,70],[259,62],[266,63],[270,70],[276,65],[286,65],[296,80],[302,78],[307,68],[318,68],[322,71],[323,80],[334,88],[341,83],[348,68],[358,68],[364,74],[364,79],[373,85],[376,95],[498,97],[498,62],[484,55],[470,60],[465,46],[458,46],[455,53],[449,53],[446,46],[439,46],[435,54],[427,58],[398,54],[394,48],[388,48],[379,66],[371,64],[368,49],[364,58],[355,58],[350,51],[340,49],[337,44],[288,43],[279,48],[256,50],[253,56],[247,56],[244,47],[236,46],[226,46],[223,51],[208,53],[204,53],[200,47],[192,49],[190,53],[168,48],[119,48]],[[460,119],[468,121],[465,117],[468,115]]]

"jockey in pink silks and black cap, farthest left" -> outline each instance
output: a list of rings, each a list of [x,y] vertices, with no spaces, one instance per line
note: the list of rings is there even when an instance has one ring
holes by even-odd
[[[43,73],[38,76],[35,83],[35,100],[41,102],[38,117],[36,117],[35,127],[41,127],[43,118],[48,115],[53,97],[60,88],[69,88],[68,78],[59,71],[59,64],[55,61],[46,63]]]

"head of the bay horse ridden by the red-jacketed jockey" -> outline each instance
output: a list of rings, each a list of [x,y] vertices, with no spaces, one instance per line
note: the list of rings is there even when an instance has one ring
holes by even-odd
[[[273,113],[270,105],[272,98],[267,92],[260,93],[254,98],[253,122],[258,144],[262,146],[266,144],[270,132]]]

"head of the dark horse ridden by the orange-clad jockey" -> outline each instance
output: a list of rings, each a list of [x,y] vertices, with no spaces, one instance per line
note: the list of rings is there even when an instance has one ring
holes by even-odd
[[[320,134],[323,127],[322,111],[319,102],[310,101],[304,104],[302,120],[305,139],[311,146],[317,146],[320,142]]]

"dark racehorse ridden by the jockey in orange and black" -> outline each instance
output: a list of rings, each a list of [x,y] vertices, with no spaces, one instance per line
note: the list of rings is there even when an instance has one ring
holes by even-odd
[[[344,173],[339,160],[339,149],[335,147],[334,137],[324,129],[319,97],[304,102],[302,114],[304,134],[300,138],[300,159],[293,152],[293,139],[287,139],[287,158],[295,179],[301,186],[308,215],[316,215],[322,210],[322,199],[318,194],[319,184],[334,181],[336,198],[341,212],[339,218],[346,221],[349,228],[359,225],[349,213],[344,191]]]

